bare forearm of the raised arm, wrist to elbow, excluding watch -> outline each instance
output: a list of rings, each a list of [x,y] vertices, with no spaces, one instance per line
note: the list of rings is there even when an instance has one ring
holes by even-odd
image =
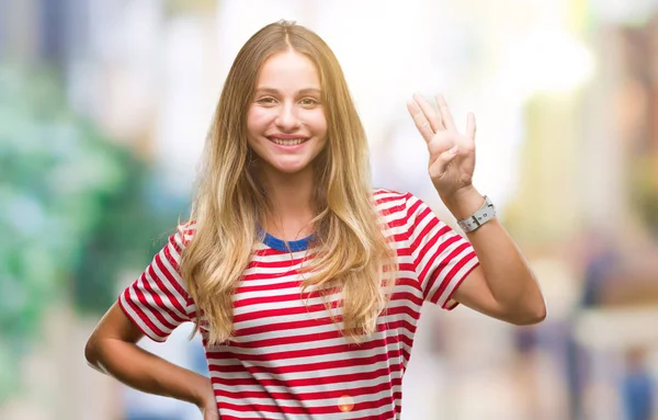
[[[456,218],[468,217],[485,202],[475,188],[442,198]],[[545,311],[542,292],[527,261],[497,217],[466,236],[480,261],[491,295],[501,307],[517,314]]]

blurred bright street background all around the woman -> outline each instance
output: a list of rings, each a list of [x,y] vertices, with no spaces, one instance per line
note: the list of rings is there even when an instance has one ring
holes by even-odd
[[[374,183],[453,226],[405,104],[475,113],[475,184],[546,295],[525,328],[426,306],[402,418],[658,419],[658,0],[0,0],[0,419],[201,418],[83,348],[188,214],[228,68],[279,19],[336,52]],[[140,345],[205,372],[190,328]]]

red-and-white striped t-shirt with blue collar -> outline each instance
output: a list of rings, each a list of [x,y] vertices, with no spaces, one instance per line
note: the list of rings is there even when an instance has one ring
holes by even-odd
[[[300,295],[308,238],[265,235],[234,295],[234,336],[202,338],[223,420],[399,419],[401,381],[423,302],[452,309],[451,295],[478,260],[470,243],[412,194],[376,190],[399,270],[377,331],[360,344],[341,334],[322,297]],[[120,296],[126,315],[164,341],[196,309],[179,273],[193,230],[172,235]],[[306,262],[308,263],[308,262]],[[340,316],[340,308],[332,310]]]

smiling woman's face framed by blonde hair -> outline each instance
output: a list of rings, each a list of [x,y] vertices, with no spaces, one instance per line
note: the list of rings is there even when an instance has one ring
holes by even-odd
[[[265,60],[247,113],[248,143],[265,175],[310,173],[327,144],[320,98],[318,71],[306,56],[288,50]]]

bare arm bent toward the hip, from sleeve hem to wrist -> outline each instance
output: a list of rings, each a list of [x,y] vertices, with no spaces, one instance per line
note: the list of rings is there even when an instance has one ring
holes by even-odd
[[[137,347],[143,337],[114,304],[89,338],[84,356],[92,367],[132,388],[194,404],[207,412],[204,419],[213,419],[209,413],[217,407],[209,379]]]

